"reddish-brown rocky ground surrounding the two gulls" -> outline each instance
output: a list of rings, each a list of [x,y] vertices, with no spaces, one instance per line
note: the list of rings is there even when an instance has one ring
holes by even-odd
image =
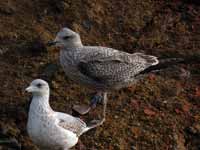
[[[72,104],[89,103],[93,91],[69,81],[58,50],[45,45],[64,26],[85,45],[188,60],[109,94],[106,122],[74,150],[200,149],[198,0],[1,0],[1,150],[37,149],[26,132],[24,89],[33,79],[49,81],[55,110],[70,113]],[[98,118],[101,107],[82,118]]]

